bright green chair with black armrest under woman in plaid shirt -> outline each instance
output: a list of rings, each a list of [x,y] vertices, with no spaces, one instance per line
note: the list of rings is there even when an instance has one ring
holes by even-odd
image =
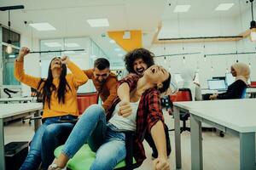
[[[120,161],[115,170],[131,170],[139,167],[133,156],[133,138],[135,133],[132,131],[118,130],[119,133],[125,133],[126,157]],[[55,149],[55,157],[60,156],[63,145]],[[109,154],[111,154],[109,152]],[[84,144],[80,150],[67,162],[67,169],[71,170],[89,170],[92,162],[96,158],[96,153],[90,150],[88,144]]]

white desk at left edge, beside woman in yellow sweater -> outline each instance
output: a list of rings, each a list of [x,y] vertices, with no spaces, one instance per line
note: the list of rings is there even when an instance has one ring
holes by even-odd
[[[20,117],[34,114],[39,116],[39,111],[43,109],[41,103],[26,104],[0,104],[0,169],[5,169],[4,161],[4,130],[3,122],[8,122]],[[40,120],[35,120],[35,130],[38,129]]]

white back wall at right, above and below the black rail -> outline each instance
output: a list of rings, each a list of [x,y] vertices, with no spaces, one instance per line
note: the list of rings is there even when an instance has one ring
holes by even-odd
[[[249,11],[245,11],[241,16],[226,19],[181,19],[180,26],[177,20],[164,20],[163,31],[160,32],[159,37],[236,36],[248,29],[250,20]],[[256,43],[251,42],[247,37],[238,42],[154,44],[150,50],[156,55],[200,52],[201,54],[166,57],[166,61],[163,57],[155,60],[157,64],[164,65],[172,73],[180,72],[184,67],[198,70],[201,87],[207,88],[207,79],[224,76],[237,59],[247,65],[250,63],[251,80],[256,81],[256,54],[208,56],[206,59],[204,54],[255,52],[255,47]]]

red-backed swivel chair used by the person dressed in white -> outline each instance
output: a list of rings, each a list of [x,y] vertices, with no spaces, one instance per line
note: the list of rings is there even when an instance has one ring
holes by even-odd
[[[175,99],[175,101],[192,101],[192,94],[189,88],[179,88],[176,93],[176,97],[174,98],[170,95],[169,99]],[[183,127],[180,127],[180,133],[183,133],[183,131],[190,132],[190,127],[186,126],[186,121],[189,120],[189,113],[181,112],[180,120],[183,122]],[[173,130],[174,129],[170,129],[169,131]]]

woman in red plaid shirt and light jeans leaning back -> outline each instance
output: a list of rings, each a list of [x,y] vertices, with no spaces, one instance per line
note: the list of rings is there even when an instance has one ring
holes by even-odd
[[[91,105],[79,122],[63,147],[61,155],[49,167],[50,170],[65,167],[80,149],[84,142],[88,142],[90,149],[96,151],[96,159],[90,169],[111,170],[119,161],[125,159],[125,134],[116,129],[134,130],[134,157],[141,164],[145,157],[143,149],[143,134],[147,128],[151,132],[158,151],[158,158],[154,160],[154,169],[170,169],[166,156],[166,136],[163,127],[163,115],[160,108],[160,93],[169,88],[171,74],[163,67],[152,65],[138,77],[130,74],[119,82],[128,89],[129,94],[119,92],[119,97],[110,105],[107,115],[101,105]],[[131,107],[126,108],[125,103]],[[127,111],[131,110],[131,111]],[[130,112],[130,114],[125,114]],[[108,121],[108,122],[107,122]]]

